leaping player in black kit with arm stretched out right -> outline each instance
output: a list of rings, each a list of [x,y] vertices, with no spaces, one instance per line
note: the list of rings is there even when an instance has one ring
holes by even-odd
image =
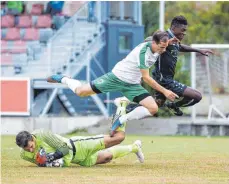
[[[167,32],[169,34],[169,38],[175,37],[179,40],[179,42],[169,45],[166,48],[166,52],[161,54],[156,61],[155,69],[152,72],[152,77],[154,80],[156,80],[166,89],[176,93],[179,97],[182,97],[180,101],[165,103],[165,96],[160,92],[155,93],[158,105],[167,106],[168,108],[174,110],[174,114],[177,116],[183,115],[183,112],[179,107],[192,106],[202,99],[202,95],[199,91],[173,79],[175,75],[178,53],[198,52],[205,56],[208,56],[208,54],[213,54],[211,50],[200,50],[180,43],[180,41],[182,41],[186,35],[187,27],[188,22],[185,17],[176,16],[173,18],[170,29],[168,29]],[[145,41],[147,41],[147,39]]]

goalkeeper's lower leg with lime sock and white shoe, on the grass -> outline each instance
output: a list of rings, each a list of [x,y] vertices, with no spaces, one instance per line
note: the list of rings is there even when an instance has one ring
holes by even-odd
[[[134,142],[134,144],[127,146],[113,146],[111,148],[105,149],[98,152],[96,164],[105,164],[113,159],[126,156],[130,153],[135,153],[138,160],[144,162],[144,154],[142,152],[142,144],[140,140]]]

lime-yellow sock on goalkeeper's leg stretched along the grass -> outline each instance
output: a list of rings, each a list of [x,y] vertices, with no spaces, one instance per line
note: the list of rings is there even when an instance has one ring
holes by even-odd
[[[136,153],[137,152],[137,146],[127,145],[127,146],[113,146],[111,148],[108,148],[108,150],[112,153],[113,159],[120,158],[123,156],[126,156],[130,153]]]

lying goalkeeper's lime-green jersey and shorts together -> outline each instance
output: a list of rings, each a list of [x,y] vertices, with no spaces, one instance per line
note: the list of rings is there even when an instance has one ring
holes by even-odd
[[[21,158],[35,164],[36,154],[41,148],[45,149],[46,153],[54,153],[57,150],[62,152],[64,167],[69,166],[70,163],[87,167],[93,166],[96,164],[98,151],[105,149],[104,135],[71,137],[76,149],[73,158],[73,147],[69,138],[45,130],[36,130],[31,134],[36,141],[35,151],[31,153],[21,149]]]

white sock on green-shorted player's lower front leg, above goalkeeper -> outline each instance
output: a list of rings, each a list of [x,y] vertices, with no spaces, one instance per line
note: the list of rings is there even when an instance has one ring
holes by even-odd
[[[128,114],[122,115],[119,120],[121,123],[134,120],[134,119],[142,119],[148,116],[152,116],[149,110],[143,106],[135,108],[133,111],[129,112]]]

